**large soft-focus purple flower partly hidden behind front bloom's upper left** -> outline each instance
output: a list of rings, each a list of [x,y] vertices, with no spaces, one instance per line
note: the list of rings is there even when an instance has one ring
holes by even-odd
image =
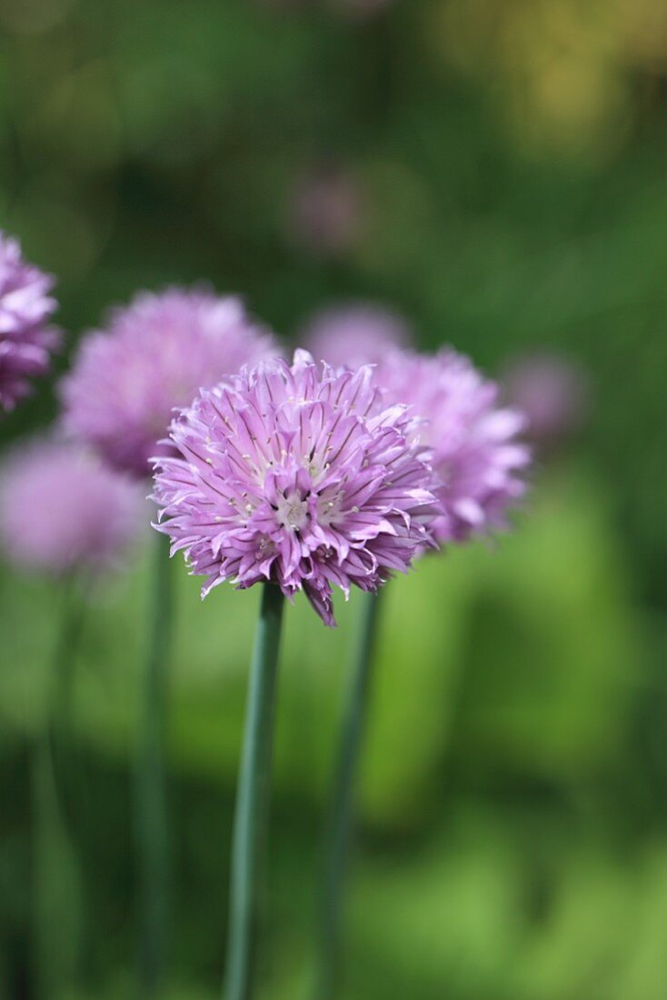
[[[205,289],[142,292],[112,313],[108,331],[82,342],[62,383],[65,427],[113,468],[144,476],[174,407],[275,352],[240,299]]]

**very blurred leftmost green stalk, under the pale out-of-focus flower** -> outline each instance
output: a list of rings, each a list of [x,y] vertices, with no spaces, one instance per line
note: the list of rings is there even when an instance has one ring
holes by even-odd
[[[38,968],[42,993],[49,996],[73,988],[81,960],[81,872],[67,802],[72,685],[84,618],[74,578],[64,581],[62,597],[47,678],[47,719],[33,761]]]

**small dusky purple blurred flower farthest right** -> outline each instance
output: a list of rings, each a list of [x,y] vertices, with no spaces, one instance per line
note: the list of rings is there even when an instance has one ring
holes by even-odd
[[[521,409],[528,434],[552,445],[580,426],[587,407],[588,379],[582,368],[554,354],[526,355],[502,380],[508,401]]]

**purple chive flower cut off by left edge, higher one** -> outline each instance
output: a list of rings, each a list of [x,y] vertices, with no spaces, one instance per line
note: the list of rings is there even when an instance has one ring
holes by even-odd
[[[0,411],[29,392],[29,380],[45,375],[60,332],[49,325],[57,308],[54,279],[28,264],[19,243],[0,231]]]

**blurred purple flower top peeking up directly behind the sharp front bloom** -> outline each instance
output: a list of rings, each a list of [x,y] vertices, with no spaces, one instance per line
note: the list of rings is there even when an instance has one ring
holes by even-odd
[[[361,303],[319,313],[304,330],[302,341],[318,361],[354,369],[377,364],[391,348],[408,347],[412,336],[396,313]]]

